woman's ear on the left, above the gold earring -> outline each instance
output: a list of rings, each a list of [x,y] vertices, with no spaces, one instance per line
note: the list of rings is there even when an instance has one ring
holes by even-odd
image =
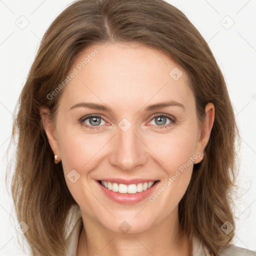
[[[56,138],[55,127],[54,127],[52,119],[50,118],[49,113],[50,112],[47,107],[44,107],[44,106],[40,107],[40,116],[42,119],[42,126],[45,130],[50,147],[51,147],[54,155],[57,155],[57,158],[59,159],[60,153],[59,153],[58,141]]]

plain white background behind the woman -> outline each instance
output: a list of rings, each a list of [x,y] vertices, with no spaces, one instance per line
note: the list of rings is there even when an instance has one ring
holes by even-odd
[[[4,181],[14,106],[43,33],[71,2],[0,0],[0,255],[25,255],[18,248],[17,221]],[[242,138],[233,243],[256,250],[256,0],[168,2],[199,30],[224,74]],[[28,20],[21,17],[23,24],[29,22],[24,29],[16,25],[21,15]]]

